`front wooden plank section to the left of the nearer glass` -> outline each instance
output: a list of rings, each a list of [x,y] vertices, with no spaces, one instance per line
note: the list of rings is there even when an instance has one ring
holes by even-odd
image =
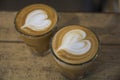
[[[0,43],[0,80],[65,80],[54,61],[32,55],[25,44]]]

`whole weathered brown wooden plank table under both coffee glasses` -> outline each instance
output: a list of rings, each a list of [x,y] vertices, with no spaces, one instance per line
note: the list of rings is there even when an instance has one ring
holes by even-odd
[[[67,80],[57,70],[52,55],[31,54],[14,28],[16,12],[0,12],[0,80]],[[95,68],[83,80],[120,80],[120,15],[59,13],[58,28],[80,24],[100,38]]]

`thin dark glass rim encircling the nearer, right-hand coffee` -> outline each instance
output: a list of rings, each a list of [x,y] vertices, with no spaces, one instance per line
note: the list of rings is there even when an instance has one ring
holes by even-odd
[[[73,26],[73,25],[68,25],[68,26]],[[65,26],[65,27],[68,27],[68,26]],[[77,25],[77,26],[82,26],[82,25]],[[65,27],[63,27],[63,28],[65,28]],[[82,26],[82,27],[85,27],[85,26]],[[63,28],[61,28],[61,29],[63,29]],[[55,56],[55,58],[56,58],[57,60],[59,60],[60,62],[63,62],[64,64],[71,65],[71,66],[84,65],[84,64],[87,64],[87,63],[90,63],[90,62],[94,61],[94,60],[98,57],[98,54],[99,54],[100,49],[101,49],[100,39],[99,39],[99,37],[97,36],[97,34],[96,34],[91,28],[88,28],[88,27],[85,27],[85,28],[87,28],[87,29],[89,29],[91,32],[93,32],[93,33],[95,34],[97,40],[98,40],[98,49],[97,49],[97,52],[96,52],[96,54],[94,55],[94,57],[92,57],[90,60],[88,60],[88,61],[86,61],[86,62],[79,63],[79,64],[72,64],[72,63],[65,62],[65,61],[63,61],[62,59],[60,59],[60,58],[55,54],[55,52],[54,52],[54,50],[53,50],[53,47],[52,47],[53,38],[54,38],[55,34],[56,34],[58,31],[54,34],[54,36],[53,36],[53,38],[51,39],[51,42],[50,42],[50,48],[51,48],[51,52],[52,52],[53,56]],[[61,30],[61,29],[60,29],[60,30]],[[59,30],[59,31],[60,31],[60,30]]]

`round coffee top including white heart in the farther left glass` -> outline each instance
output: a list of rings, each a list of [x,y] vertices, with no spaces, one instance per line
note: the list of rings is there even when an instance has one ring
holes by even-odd
[[[38,36],[51,31],[57,22],[56,11],[45,4],[33,4],[22,9],[16,16],[17,30]]]

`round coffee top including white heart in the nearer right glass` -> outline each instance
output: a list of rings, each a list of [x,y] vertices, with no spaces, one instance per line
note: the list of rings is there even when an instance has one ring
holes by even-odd
[[[79,25],[64,27],[52,40],[54,54],[69,64],[81,64],[91,60],[97,54],[98,45],[96,35]]]

